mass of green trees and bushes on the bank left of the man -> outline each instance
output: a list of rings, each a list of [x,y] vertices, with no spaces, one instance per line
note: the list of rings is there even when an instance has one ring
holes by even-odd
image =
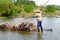
[[[30,13],[33,11],[35,2],[29,0],[0,0],[0,16]]]

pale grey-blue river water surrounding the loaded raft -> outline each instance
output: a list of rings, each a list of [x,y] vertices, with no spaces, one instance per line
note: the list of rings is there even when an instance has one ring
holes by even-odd
[[[21,23],[23,21],[32,21],[37,23],[35,18],[13,18],[13,19],[0,19],[0,23],[10,22]],[[24,32],[11,32],[0,31],[0,40],[60,40],[60,18],[56,17],[43,17],[42,26],[44,29],[53,29],[53,31],[43,31],[43,33],[24,33]]]

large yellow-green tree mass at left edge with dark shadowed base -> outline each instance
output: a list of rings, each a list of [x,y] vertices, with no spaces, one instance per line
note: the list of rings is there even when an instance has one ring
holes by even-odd
[[[14,5],[12,0],[1,0],[0,1],[0,15],[11,16],[18,13],[19,7]]]

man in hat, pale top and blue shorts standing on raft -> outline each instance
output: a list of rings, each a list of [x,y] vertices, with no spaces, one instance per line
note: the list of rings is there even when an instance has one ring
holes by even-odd
[[[40,10],[35,10],[35,15],[34,16],[37,19],[37,30],[38,30],[38,32],[40,32],[39,28],[41,28],[41,32],[43,32],[41,13],[42,12]]]

